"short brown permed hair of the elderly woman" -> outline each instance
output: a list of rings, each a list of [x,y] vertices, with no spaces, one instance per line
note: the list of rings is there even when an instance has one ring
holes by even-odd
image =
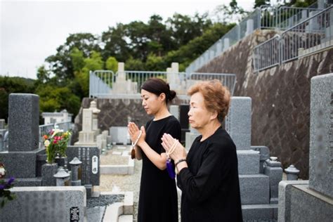
[[[218,120],[222,122],[228,114],[230,105],[230,91],[221,81],[214,79],[211,81],[200,81],[188,90],[188,95],[202,93],[204,105],[210,112],[218,113]]]

